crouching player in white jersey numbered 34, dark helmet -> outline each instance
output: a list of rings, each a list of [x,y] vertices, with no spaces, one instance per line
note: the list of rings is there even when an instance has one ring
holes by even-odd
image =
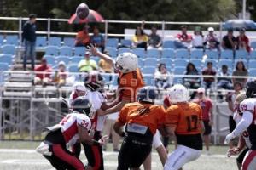
[[[43,154],[56,169],[85,169],[82,161],[67,150],[77,141],[90,145],[105,143],[106,137],[96,141],[89,136],[91,108],[92,105],[88,99],[79,97],[73,101],[72,113],[67,114],[59,124],[47,128],[49,133],[36,150]]]

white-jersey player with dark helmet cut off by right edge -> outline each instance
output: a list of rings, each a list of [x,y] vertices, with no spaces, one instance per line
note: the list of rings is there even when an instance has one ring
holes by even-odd
[[[241,121],[237,124],[235,130],[226,136],[225,141],[230,143],[231,139],[240,136],[245,130],[249,135],[252,146],[242,162],[242,170],[254,170],[256,167],[256,82],[247,82],[247,99],[243,100],[239,106],[242,112]]]

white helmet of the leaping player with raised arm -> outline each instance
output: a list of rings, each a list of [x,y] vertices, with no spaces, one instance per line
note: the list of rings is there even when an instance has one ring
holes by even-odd
[[[119,54],[115,61],[115,67],[122,73],[135,71],[138,67],[137,56],[132,53]]]

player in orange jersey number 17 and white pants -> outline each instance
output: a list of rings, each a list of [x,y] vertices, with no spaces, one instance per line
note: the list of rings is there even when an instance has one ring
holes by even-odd
[[[170,89],[172,105],[166,111],[166,131],[176,135],[177,149],[168,157],[165,170],[178,170],[201,156],[204,124],[201,106],[189,102],[189,91],[181,84]]]

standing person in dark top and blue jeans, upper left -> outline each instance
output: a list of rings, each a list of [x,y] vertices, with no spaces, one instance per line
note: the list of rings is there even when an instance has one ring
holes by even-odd
[[[22,28],[22,42],[25,44],[25,54],[23,56],[23,70],[26,71],[26,59],[31,59],[32,71],[34,70],[34,62],[36,57],[35,47],[36,47],[36,14],[30,14],[29,20],[26,21]]]

